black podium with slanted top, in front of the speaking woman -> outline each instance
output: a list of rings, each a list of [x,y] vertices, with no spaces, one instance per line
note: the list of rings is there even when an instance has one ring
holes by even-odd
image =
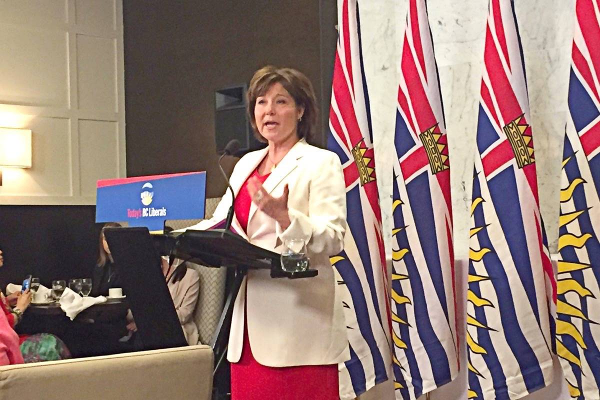
[[[229,342],[233,305],[248,269],[269,269],[271,271],[271,278],[273,279],[310,278],[318,274],[317,270],[311,269],[300,272],[286,272],[281,269],[280,254],[255,246],[229,230],[214,229],[200,231],[188,229],[183,233],[176,234],[176,236],[174,234],[161,234],[152,235],[151,237],[147,228],[107,228],[104,234],[118,267],[122,264],[124,269],[141,270],[145,264],[149,275],[156,275],[151,271],[156,270],[161,276],[162,287],[166,290],[167,295],[169,295],[169,291],[166,284],[164,284],[164,277],[158,267],[160,265],[159,252],[163,255],[169,254],[170,257],[181,258],[181,260],[191,261],[207,267],[227,267],[233,269],[233,281],[227,291],[223,312],[221,312],[221,317],[210,343],[215,356],[215,366],[212,376],[216,395],[213,399],[218,398],[220,390],[223,392],[227,390],[223,388],[221,375],[227,372],[223,371],[223,366]],[[113,245],[115,246],[114,251]],[[134,259],[136,257],[137,260]],[[132,264],[136,266],[131,267]],[[157,267],[150,267],[152,264],[157,264]],[[121,273],[121,270],[119,270],[119,273]],[[130,276],[129,273],[127,275]],[[155,285],[160,285],[156,282],[155,276],[152,280]],[[164,296],[164,290],[161,290],[163,291],[161,296]],[[127,293],[129,297],[129,292]],[[133,296],[131,300],[133,302],[136,301],[136,299],[133,299]],[[170,304],[170,308],[175,312],[172,302]],[[134,311],[134,315],[136,315],[137,324],[136,311],[133,307],[132,310]],[[170,313],[170,311],[165,312],[166,314]],[[167,319],[171,320],[170,317]],[[177,324],[179,335],[182,336],[181,326],[179,326],[178,321]],[[140,332],[141,326],[138,325],[138,327],[138,332]],[[165,327],[164,329],[167,328]],[[156,331],[150,336],[154,339],[164,338],[163,333],[160,333],[158,337],[154,337],[153,335],[158,335]],[[174,345],[181,345],[179,343],[180,339],[176,336],[178,335],[170,338],[170,341]]]

